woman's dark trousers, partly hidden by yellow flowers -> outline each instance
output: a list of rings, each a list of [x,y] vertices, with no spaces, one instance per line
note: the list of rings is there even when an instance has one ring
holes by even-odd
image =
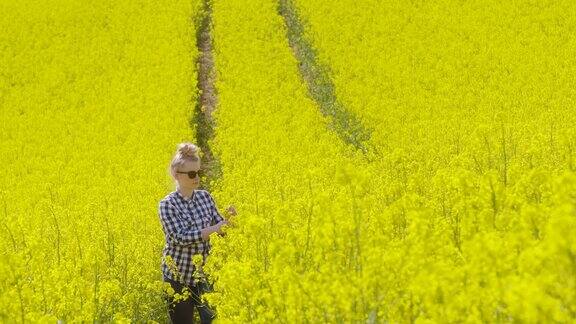
[[[194,311],[198,309],[200,323],[212,323],[216,317],[214,311],[207,303],[202,302],[202,293],[210,288],[207,283],[200,282],[196,285],[183,285],[172,279],[164,278],[165,282],[170,283],[176,293],[181,294],[184,287],[190,289],[190,297],[186,300],[174,303],[170,296],[166,296],[168,302],[168,314],[173,324],[190,324],[194,323]]]

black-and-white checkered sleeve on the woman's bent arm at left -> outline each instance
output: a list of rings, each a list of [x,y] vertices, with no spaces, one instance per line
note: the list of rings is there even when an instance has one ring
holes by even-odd
[[[158,210],[162,230],[166,239],[176,245],[190,245],[202,242],[200,230],[187,228],[184,222],[177,216],[177,211],[167,201],[161,201]]]

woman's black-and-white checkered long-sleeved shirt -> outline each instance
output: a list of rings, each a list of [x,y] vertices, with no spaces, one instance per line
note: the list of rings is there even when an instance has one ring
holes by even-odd
[[[162,251],[162,274],[165,278],[193,285],[196,267],[192,256],[202,255],[204,264],[210,253],[210,241],[202,239],[200,230],[224,219],[206,190],[194,190],[192,199],[188,200],[180,192],[173,191],[160,201],[158,213],[166,238]],[[167,264],[168,256],[174,260],[180,276]],[[203,273],[199,271],[196,276],[203,276]]]

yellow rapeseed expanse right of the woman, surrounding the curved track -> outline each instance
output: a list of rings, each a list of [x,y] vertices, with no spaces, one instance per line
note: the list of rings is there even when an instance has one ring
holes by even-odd
[[[219,318],[574,320],[574,5],[295,5],[379,153],[327,128],[276,1],[214,2]]]

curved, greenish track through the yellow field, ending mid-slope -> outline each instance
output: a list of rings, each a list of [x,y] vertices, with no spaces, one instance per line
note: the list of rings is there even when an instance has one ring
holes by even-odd
[[[298,17],[293,1],[279,0],[278,13],[284,18],[288,44],[298,61],[298,68],[310,97],[316,101],[322,114],[330,117],[330,129],[357,150],[365,154],[369,150],[374,152],[374,148],[368,144],[371,131],[336,98],[329,68],[318,62],[312,44],[304,38],[304,25]]]

